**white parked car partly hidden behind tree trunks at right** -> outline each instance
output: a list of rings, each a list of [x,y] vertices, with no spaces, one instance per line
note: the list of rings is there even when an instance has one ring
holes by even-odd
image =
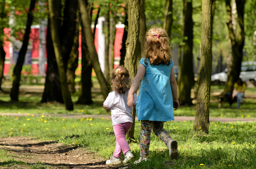
[[[243,62],[241,66],[241,72],[239,77],[242,79],[242,81],[247,80],[255,80],[256,81],[256,61],[250,61],[250,62]],[[217,74],[213,74],[211,76],[211,81],[220,81],[220,82],[226,82],[227,81],[227,68]]]

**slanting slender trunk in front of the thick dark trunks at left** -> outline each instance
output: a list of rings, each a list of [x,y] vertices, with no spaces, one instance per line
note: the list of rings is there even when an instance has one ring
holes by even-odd
[[[58,66],[58,71],[60,76],[61,93],[63,96],[63,101],[65,103],[65,109],[73,110],[74,106],[71,100],[71,95],[68,91],[66,71],[65,71],[64,60],[63,60],[63,55],[61,51],[60,38],[58,34],[57,20],[54,14],[55,9],[54,9],[53,2],[54,0],[49,0],[48,4],[49,4],[50,19],[51,19],[51,37],[53,41],[54,53],[56,56],[56,61],[57,61],[57,66]]]

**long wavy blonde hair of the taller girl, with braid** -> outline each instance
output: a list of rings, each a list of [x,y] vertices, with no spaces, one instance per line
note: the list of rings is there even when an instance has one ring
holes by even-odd
[[[163,28],[152,27],[146,32],[146,44],[144,46],[145,53],[145,64],[148,58],[150,64],[160,65],[160,64],[171,64],[171,46],[169,45],[170,39]]]

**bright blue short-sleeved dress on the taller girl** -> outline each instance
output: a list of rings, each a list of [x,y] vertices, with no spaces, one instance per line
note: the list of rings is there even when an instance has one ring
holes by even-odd
[[[150,65],[149,59],[144,63],[145,75],[136,102],[138,120],[170,121],[174,120],[173,101],[170,75],[173,62],[170,65]]]

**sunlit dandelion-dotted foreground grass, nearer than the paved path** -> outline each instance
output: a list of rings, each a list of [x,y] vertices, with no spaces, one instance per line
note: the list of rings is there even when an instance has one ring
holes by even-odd
[[[164,127],[171,137],[177,140],[180,154],[179,158],[174,160],[175,163],[170,165],[172,168],[208,168],[209,166],[211,168],[255,168],[255,125],[255,122],[211,122],[209,134],[205,134],[194,132],[191,121],[166,122]],[[40,140],[58,140],[98,152],[104,159],[108,159],[115,149],[112,122],[106,118],[0,116],[0,129],[2,137],[29,136]],[[130,144],[135,158],[130,163],[139,158],[139,130],[140,123],[136,121],[134,133],[136,142]],[[68,137],[71,135],[77,135],[77,137]],[[3,157],[5,153],[1,151],[0,154],[0,157]],[[122,155],[121,158],[124,156]],[[152,133],[149,161],[136,165],[130,164],[129,167],[163,168],[163,162],[167,160],[168,149]],[[1,164],[6,166],[11,162],[6,160]]]

